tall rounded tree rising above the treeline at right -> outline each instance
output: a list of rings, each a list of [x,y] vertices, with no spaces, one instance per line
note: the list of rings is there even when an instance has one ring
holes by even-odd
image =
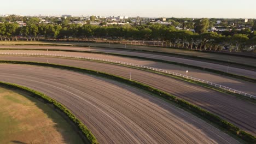
[[[209,28],[209,20],[207,18],[195,21],[195,31],[199,34],[205,33]]]

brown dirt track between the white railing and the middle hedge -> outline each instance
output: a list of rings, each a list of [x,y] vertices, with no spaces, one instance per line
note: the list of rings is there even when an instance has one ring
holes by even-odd
[[[11,57],[9,59],[45,62],[45,57]],[[174,94],[177,97],[185,99],[205,110],[211,111],[212,113],[227,119],[241,129],[256,135],[256,111],[254,111],[256,105],[249,103],[248,101],[237,99],[232,95],[219,93],[208,88],[172,79],[171,77],[112,64],[50,57],[48,59],[50,63],[103,71],[123,76],[128,79],[131,72],[133,80],[146,83],[147,85],[161,89],[162,91]]]

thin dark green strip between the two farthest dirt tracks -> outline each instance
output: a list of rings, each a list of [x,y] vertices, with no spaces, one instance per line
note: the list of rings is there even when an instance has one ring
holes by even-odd
[[[0,49],[0,50],[42,50],[42,51],[45,51],[45,49]],[[95,54],[101,54],[101,55],[110,55],[110,56],[120,56],[120,57],[144,59],[144,60],[148,60],[148,61],[168,63],[168,64],[173,64],[173,65],[179,65],[181,67],[204,70],[204,71],[208,71],[208,72],[211,72],[211,73],[220,74],[220,75],[229,76],[229,77],[233,77],[233,78],[236,78],[236,79],[241,79],[241,80],[256,83],[256,79],[253,79],[251,77],[226,73],[224,71],[209,69],[209,68],[203,68],[203,67],[199,67],[199,66],[195,66],[195,65],[189,65],[189,64],[172,62],[172,61],[165,61],[165,60],[162,60],[162,59],[139,57],[139,56],[130,56],[130,55],[123,55],[123,54],[119,54],[119,53],[95,52],[95,51],[60,50],[60,49],[49,49],[48,51],[83,52],[83,53],[95,53]]]

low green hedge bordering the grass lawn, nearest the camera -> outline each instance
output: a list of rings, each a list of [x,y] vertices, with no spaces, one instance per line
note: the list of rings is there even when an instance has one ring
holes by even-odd
[[[43,99],[43,101],[45,103],[54,105],[54,107],[56,109],[63,112],[65,114],[65,116],[67,116],[71,120],[71,122],[74,123],[75,127],[77,127],[79,129],[79,131],[82,133],[83,137],[85,137],[86,143],[94,143],[94,144],[98,143],[95,136],[91,133],[91,131],[81,121],[79,121],[78,118],[76,118],[65,106],[63,106],[56,100],[51,99],[50,97],[48,97],[48,95],[45,95],[38,91],[34,91],[33,89],[30,89],[30,88],[27,88],[24,86],[16,85],[14,83],[0,81],[0,86],[7,87],[7,88],[15,88],[15,89],[19,89],[24,92],[28,92],[28,93],[32,94],[31,95],[32,97],[38,98],[38,99]]]

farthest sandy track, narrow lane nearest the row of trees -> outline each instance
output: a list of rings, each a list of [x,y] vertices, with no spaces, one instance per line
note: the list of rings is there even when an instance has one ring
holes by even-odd
[[[229,67],[228,65],[220,65],[208,62],[201,62],[195,61],[191,59],[184,59],[184,58],[177,58],[171,56],[163,56],[163,55],[155,55],[150,53],[140,53],[140,52],[131,52],[131,51],[120,51],[120,50],[109,50],[109,49],[94,49],[90,48],[90,50],[86,47],[65,47],[65,46],[0,46],[0,48],[31,48],[31,49],[63,49],[63,50],[83,50],[83,51],[97,51],[97,52],[107,52],[107,53],[119,53],[123,55],[131,55],[131,56],[139,56],[139,57],[147,57],[147,58],[155,58],[155,59],[162,59],[165,61],[172,61],[178,63],[184,63],[189,65],[195,65],[203,68],[210,68],[220,71],[228,71],[228,73],[236,74],[236,75],[243,75],[247,77],[252,77],[256,79],[256,71],[245,70],[240,68]],[[243,59],[243,58],[240,58]],[[251,61],[255,61],[251,59]],[[255,62],[256,63],[256,62]]]

